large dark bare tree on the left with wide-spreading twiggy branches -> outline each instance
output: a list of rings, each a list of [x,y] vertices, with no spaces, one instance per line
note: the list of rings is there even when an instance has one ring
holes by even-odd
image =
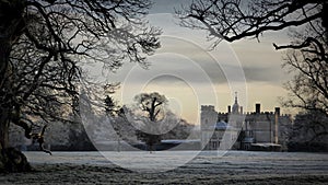
[[[71,113],[84,63],[99,61],[108,70],[124,61],[147,67],[147,55],[160,47],[160,31],[143,20],[150,5],[143,0],[0,0],[0,148],[8,147],[11,123],[33,137],[28,119],[49,122]]]

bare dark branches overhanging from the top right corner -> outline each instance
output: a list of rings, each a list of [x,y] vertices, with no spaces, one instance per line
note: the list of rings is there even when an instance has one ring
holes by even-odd
[[[209,31],[214,44],[245,37],[259,38],[263,32],[300,26],[321,19],[327,25],[325,0],[195,0],[177,11],[181,25]]]

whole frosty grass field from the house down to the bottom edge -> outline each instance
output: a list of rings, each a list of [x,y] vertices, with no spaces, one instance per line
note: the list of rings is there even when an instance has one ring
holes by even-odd
[[[0,184],[328,184],[327,153],[206,151],[185,164],[194,151],[25,154],[35,172],[2,174]]]

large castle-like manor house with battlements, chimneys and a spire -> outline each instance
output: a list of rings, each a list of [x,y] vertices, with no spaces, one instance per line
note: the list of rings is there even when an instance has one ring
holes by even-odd
[[[288,130],[292,125],[290,115],[261,112],[255,104],[255,112],[244,113],[237,95],[227,113],[218,113],[213,105],[201,106],[201,148],[204,150],[285,150]]]

